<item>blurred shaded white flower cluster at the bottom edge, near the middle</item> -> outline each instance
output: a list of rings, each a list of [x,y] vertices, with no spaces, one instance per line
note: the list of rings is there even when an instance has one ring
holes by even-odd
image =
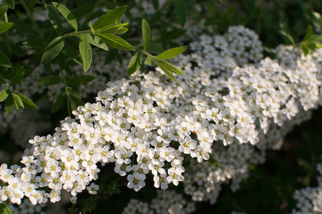
[[[193,202],[187,202],[182,194],[175,191],[158,190],[157,197],[147,202],[131,199],[123,209],[123,214],[188,214],[195,211]]]

